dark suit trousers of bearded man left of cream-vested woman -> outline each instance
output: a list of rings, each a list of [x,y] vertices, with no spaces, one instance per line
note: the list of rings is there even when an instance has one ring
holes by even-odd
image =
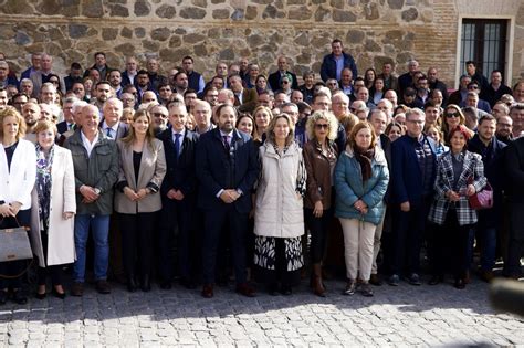
[[[237,284],[244,283],[247,281],[245,234],[248,231],[248,213],[240,213],[233,204],[228,204],[223,209],[206,210],[205,215],[202,238],[203,283],[214,283],[220,232],[228,222]]]

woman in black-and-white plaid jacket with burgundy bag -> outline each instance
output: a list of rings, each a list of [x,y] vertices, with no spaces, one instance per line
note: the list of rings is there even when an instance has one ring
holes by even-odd
[[[470,208],[468,197],[481,191],[486,184],[481,156],[467,150],[469,138],[470,133],[464,126],[453,128],[449,134],[450,151],[437,162],[434,201],[428,218],[438,229],[431,285],[442,282],[446,261],[450,260],[454,286],[465,287],[468,234],[476,223],[476,211]]]

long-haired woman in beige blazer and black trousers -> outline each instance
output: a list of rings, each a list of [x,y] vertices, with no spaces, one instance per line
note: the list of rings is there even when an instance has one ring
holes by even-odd
[[[166,158],[164,144],[154,136],[148,112],[136,112],[129,130],[127,137],[117,141],[120,170],[115,210],[120,218],[127,289],[137,288],[135,268],[138,266],[140,288],[148,292],[156,212],[161,209],[158,191],[166,175]]]

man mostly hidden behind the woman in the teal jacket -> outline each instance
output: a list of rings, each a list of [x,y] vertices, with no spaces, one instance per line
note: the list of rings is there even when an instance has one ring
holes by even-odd
[[[386,126],[388,125],[388,116],[385,112],[376,108],[374,109],[368,116],[369,123],[371,124],[373,128],[375,129],[375,134],[377,135],[377,146],[380,147],[386,156],[386,161],[388,164],[389,170],[391,169],[391,141],[389,140],[388,136],[384,134],[386,131]],[[389,189],[391,187],[391,181],[388,183],[388,190],[384,196],[384,205],[387,207],[389,201]],[[369,278],[369,283],[373,285],[381,285],[381,281],[378,276],[378,267],[377,267],[377,257],[378,253],[380,252],[380,245],[382,244],[382,249],[386,254],[386,250],[389,252],[391,249],[390,239],[387,240],[389,243],[381,243],[382,232],[391,232],[390,226],[385,226],[385,217],[386,217],[386,209],[384,210],[384,215],[380,223],[377,225],[375,230],[375,239],[373,245],[373,265],[371,265],[371,277]]]

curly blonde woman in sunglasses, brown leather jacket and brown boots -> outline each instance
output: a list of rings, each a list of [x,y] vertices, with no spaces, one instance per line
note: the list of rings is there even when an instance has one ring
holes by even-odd
[[[304,211],[311,232],[311,286],[313,293],[321,297],[324,297],[326,292],[322,281],[322,260],[326,250],[327,229],[333,218],[333,171],[338,157],[335,143],[338,122],[329,112],[318,110],[307,118],[306,131],[310,141],[304,145],[307,172]]]

